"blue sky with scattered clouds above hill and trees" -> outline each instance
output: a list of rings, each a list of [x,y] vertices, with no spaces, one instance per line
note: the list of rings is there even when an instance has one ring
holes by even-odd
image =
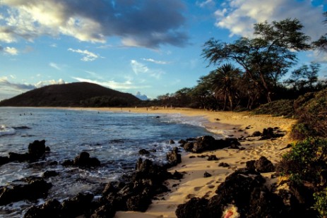
[[[0,100],[44,85],[90,82],[153,99],[194,87],[216,66],[215,38],[253,37],[254,23],[297,18],[317,40],[327,0],[0,0]],[[302,52],[299,66],[327,54]]]

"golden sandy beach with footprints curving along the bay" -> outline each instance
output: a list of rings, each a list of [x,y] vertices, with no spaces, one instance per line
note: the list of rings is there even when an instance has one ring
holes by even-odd
[[[199,109],[171,109],[171,108],[97,108],[98,111],[124,111],[132,113],[148,114],[183,114],[185,116],[203,116],[208,122],[203,123],[208,131],[213,133],[227,133],[239,137],[248,136],[254,131],[263,131],[263,128],[278,127],[280,131],[289,132],[295,119],[273,117],[269,115],[251,115],[249,112],[230,111],[204,111]],[[198,157],[198,154],[184,152],[182,163],[174,166],[170,171],[184,172],[184,178],[180,181],[168,180],[165,185],[171,190],[168,193],[157,196],[152,205],[144,213],[142,212],[117,212],[115,217],[176,217],[177,205],[187,202],[190,198],[211,198],[215,195],[215,189],[225,181],[226,176],[235,169],[244,168],[249,160],[267,157],[273,164],[289,149],[281,150],[290,143],[290,138],[285,135],[274,140],[246,140],[241,143],[244,150],[215,150],[203,152],[201,155],[216,155],[218,161],[208,161],[206,157]],[[220,162],[229,164],[228,167],[218,166]],[[212,176],[204,178],[203,174],[208,172]],[[271,173],[263,174],[267,178],[267,186],[274,183],[278,178],[271,179]]]

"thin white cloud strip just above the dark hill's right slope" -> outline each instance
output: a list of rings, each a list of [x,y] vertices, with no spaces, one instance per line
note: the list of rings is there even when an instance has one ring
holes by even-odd
[[[141,89],[141,88],[150,87],[149,85],[135,85],[131,82],[131,80],[126,80],[125,82],[119,83],[114,80],[97,81],[97,80],[89,80],[85,78],[76,78],[76,77],[73,77],[73,79],[78,80],[79,82],[95,83],[97,85],[109,87],[113,90],[130,90],[130,89]]]

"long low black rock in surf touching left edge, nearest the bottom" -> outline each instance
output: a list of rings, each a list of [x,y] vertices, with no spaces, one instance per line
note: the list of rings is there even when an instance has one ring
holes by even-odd
[[[28,177],[0,188],[0,205],[19,200],[36,200],[47,197],[51,183],[40,177]]]

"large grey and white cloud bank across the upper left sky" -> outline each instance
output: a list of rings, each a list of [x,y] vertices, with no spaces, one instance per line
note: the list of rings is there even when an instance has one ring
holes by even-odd
[[[7,43],[43,35],[83,42],[120,37],[126,46],[149,48],[188,41],[182,0],[2,0],[0,6],[0,40]]]

